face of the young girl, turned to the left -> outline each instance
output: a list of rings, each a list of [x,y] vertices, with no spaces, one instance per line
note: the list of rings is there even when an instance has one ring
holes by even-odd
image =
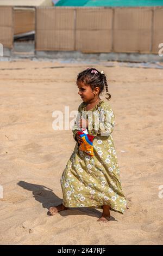
[[[85,85],[84,82],[77,80],[77,86],[79,88],[79,96],[82,98],[83,102],[90,102],[95,95],[93,94],[92,88],[89,85]]]

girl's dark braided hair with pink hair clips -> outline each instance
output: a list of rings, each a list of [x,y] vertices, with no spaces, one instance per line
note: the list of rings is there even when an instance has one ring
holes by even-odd
[[[105,98],[108,100],[111,98],[104,72],[101,73],[96,68],[87,68],[78,74],[77,81],[79,80],[84,82],[85,85],[90,85],[92,90],[99,87],[99,93],[103,92],[105,87]]]

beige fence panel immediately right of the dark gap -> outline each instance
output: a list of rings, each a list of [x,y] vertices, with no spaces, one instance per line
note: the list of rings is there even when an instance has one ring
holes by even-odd
[[[74,50],[74,9],[36,9],[36,50]]]

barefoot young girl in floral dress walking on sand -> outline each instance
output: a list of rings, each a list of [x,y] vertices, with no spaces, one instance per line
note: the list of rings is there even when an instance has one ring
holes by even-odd
[[[114,112],[109,103],[99,97],[104,87],[105,98],[109,100],[111,96],[108,93],[104,72],[99,72],[95,68],[87,68],[79,73],[77,86],[78,94],[83,100],[79,105],[78,116],[72,129],[73,138],[77,143],[60,180],[62,204],[50,207],[49,212],[55,215],[69,207],[95,207],[103,209],[98,221],[108,222],[110,210],[124,213],[127,204],[121,187],[120,169],[111,135],[115,126]],[[82,118],[83,111],[95,115],[99,121],[98,126],[96,126],[96,118],[91,120]],[[101,113],[105,117],[103,122],[99,118]],[[86,128],[88,134],[95,136],[93,156],[79,150],[83,142],[77,132],[81,127]]]

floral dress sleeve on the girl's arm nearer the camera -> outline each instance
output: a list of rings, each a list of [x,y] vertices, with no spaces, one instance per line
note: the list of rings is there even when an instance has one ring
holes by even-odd
[[[88,131],[93,136],[109,136],[115,126],[115,115],[109,104],[103,104],[90,117]]]

